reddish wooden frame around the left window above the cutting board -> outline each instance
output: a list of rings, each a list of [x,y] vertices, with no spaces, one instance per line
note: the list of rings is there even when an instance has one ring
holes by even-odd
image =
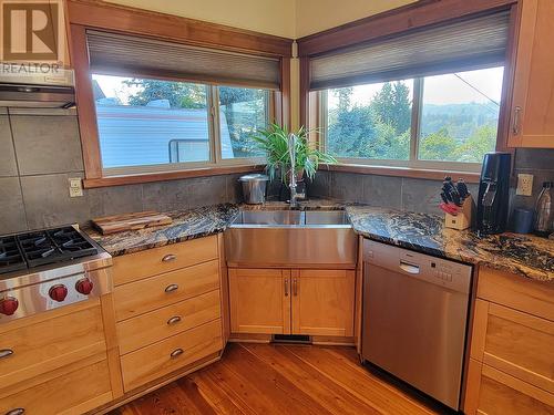
[[[225,175],[261,169],[263,166],[253,164],[255,163],[254,160],[244,160],[243,163],[238,162],[236,165],[235,163],[224,163],[171,172],[104,176],[86,44],[86,30],[95,29],[123,34],[147,35],[153,39],[187,45],[259,54],[279,59],[281,75],[280,89],[271,94],[270,108],[273,110],[275,120],[284,125],[290,125],[291,117],[291,39],[92,0],[68,0],[66,4],[69,22],[68,35],[71,62],[75,71],[75,96],[79,108],[79,127],[85,174],[83,185],[85,188]],[[141,74],[133,75],[140,76]]]

